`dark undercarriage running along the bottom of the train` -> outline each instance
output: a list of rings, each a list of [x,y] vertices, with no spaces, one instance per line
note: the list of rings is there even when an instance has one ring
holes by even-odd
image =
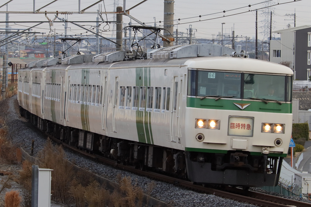
[[[243,187],[276,186],[280,176],[280,157],[255,156],[247,151],[181,151],[62,126],[23,108],[20,114],[61,142],[141,170],[153,169],[196,183]]]

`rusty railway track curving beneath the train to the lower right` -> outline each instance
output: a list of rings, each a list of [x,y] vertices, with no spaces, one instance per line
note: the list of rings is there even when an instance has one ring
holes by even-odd
[[[45,132],[44,132],[45,133]],[[277,197],[277,196],[272,196],[272,195],[267,195],[259,192],[254,192],[254,191],[245,191],[240,188],[231,188],[231,187],[226,187],[225,190],[217,190],[214,188],[209,188],[209,187],[203,187],[201,185],[194,184],[189,181],[185,181],[182,179],[178,178],[173,178],[167,175],[151,172],[151,171],[142,171],[139,169],[135,169],[133,166],[127,166],[123,164],[116,163],[114,160],[109,160],[107,158],[103,158],[99,155],[95,154],[90,154],[85,151],[81,151],[77,149],[76,147],[70,146],[66,143],[61,142],[60,140],[52,137],[51,135],[45,133],[47,136],[49,136],[53,141],[62,144],[63,146],[76,151],[82,155],[85,155],[87,157],[97,159],[100,162],[115,166],[119,169],[124,169],[132,173],[136,173],[142,176],[146,176],[152,179],[157,179],[163,182],[168,182],[172,183],[174,185],[178,185],[179,187],[184,187],[188,188],[194,191],[199,191],[207,194],[212,194],[215,196],[220,196],[222,198],[226,199],[231,199],[231,200],[236,200],[238,202],[244,202],[244,203],[249,203],[253,205],[258,205],[258,206],[269,206],[269,207],[288,207],[288,206],[299,206],[299,207],[310,207],[311,204],[301,202],[301,201],[296,201],[296,200],[290,200],[282,197]]]

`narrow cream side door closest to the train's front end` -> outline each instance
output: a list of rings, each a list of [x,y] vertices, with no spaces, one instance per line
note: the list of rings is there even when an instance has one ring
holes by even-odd
[[[179,81],[179,77],[174,77],[174,86],[173,86],[173,103],[172,103],[172,117],[171,117],[171,134],[173,142],[178,141],[178,137],[180,137],[180,92],[179,88],[182,88],[182,82]]]

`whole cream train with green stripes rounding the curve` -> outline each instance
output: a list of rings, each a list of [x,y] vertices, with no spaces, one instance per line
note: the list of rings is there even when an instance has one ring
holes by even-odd
[[[198,184],[276,186],[292,126],[293,71],[215,44],[35,61],[20,114],[81,150]],[[273,94],[272,94],[273,91]]]

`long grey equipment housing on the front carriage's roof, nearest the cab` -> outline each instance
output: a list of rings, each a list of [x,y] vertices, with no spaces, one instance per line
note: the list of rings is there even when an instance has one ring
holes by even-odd
[[[147,53],[147,59],[175,59],[183,57],[209,57],[231,55],[234,52],[230,47],[216,44],[175,45],[162,47]]]

